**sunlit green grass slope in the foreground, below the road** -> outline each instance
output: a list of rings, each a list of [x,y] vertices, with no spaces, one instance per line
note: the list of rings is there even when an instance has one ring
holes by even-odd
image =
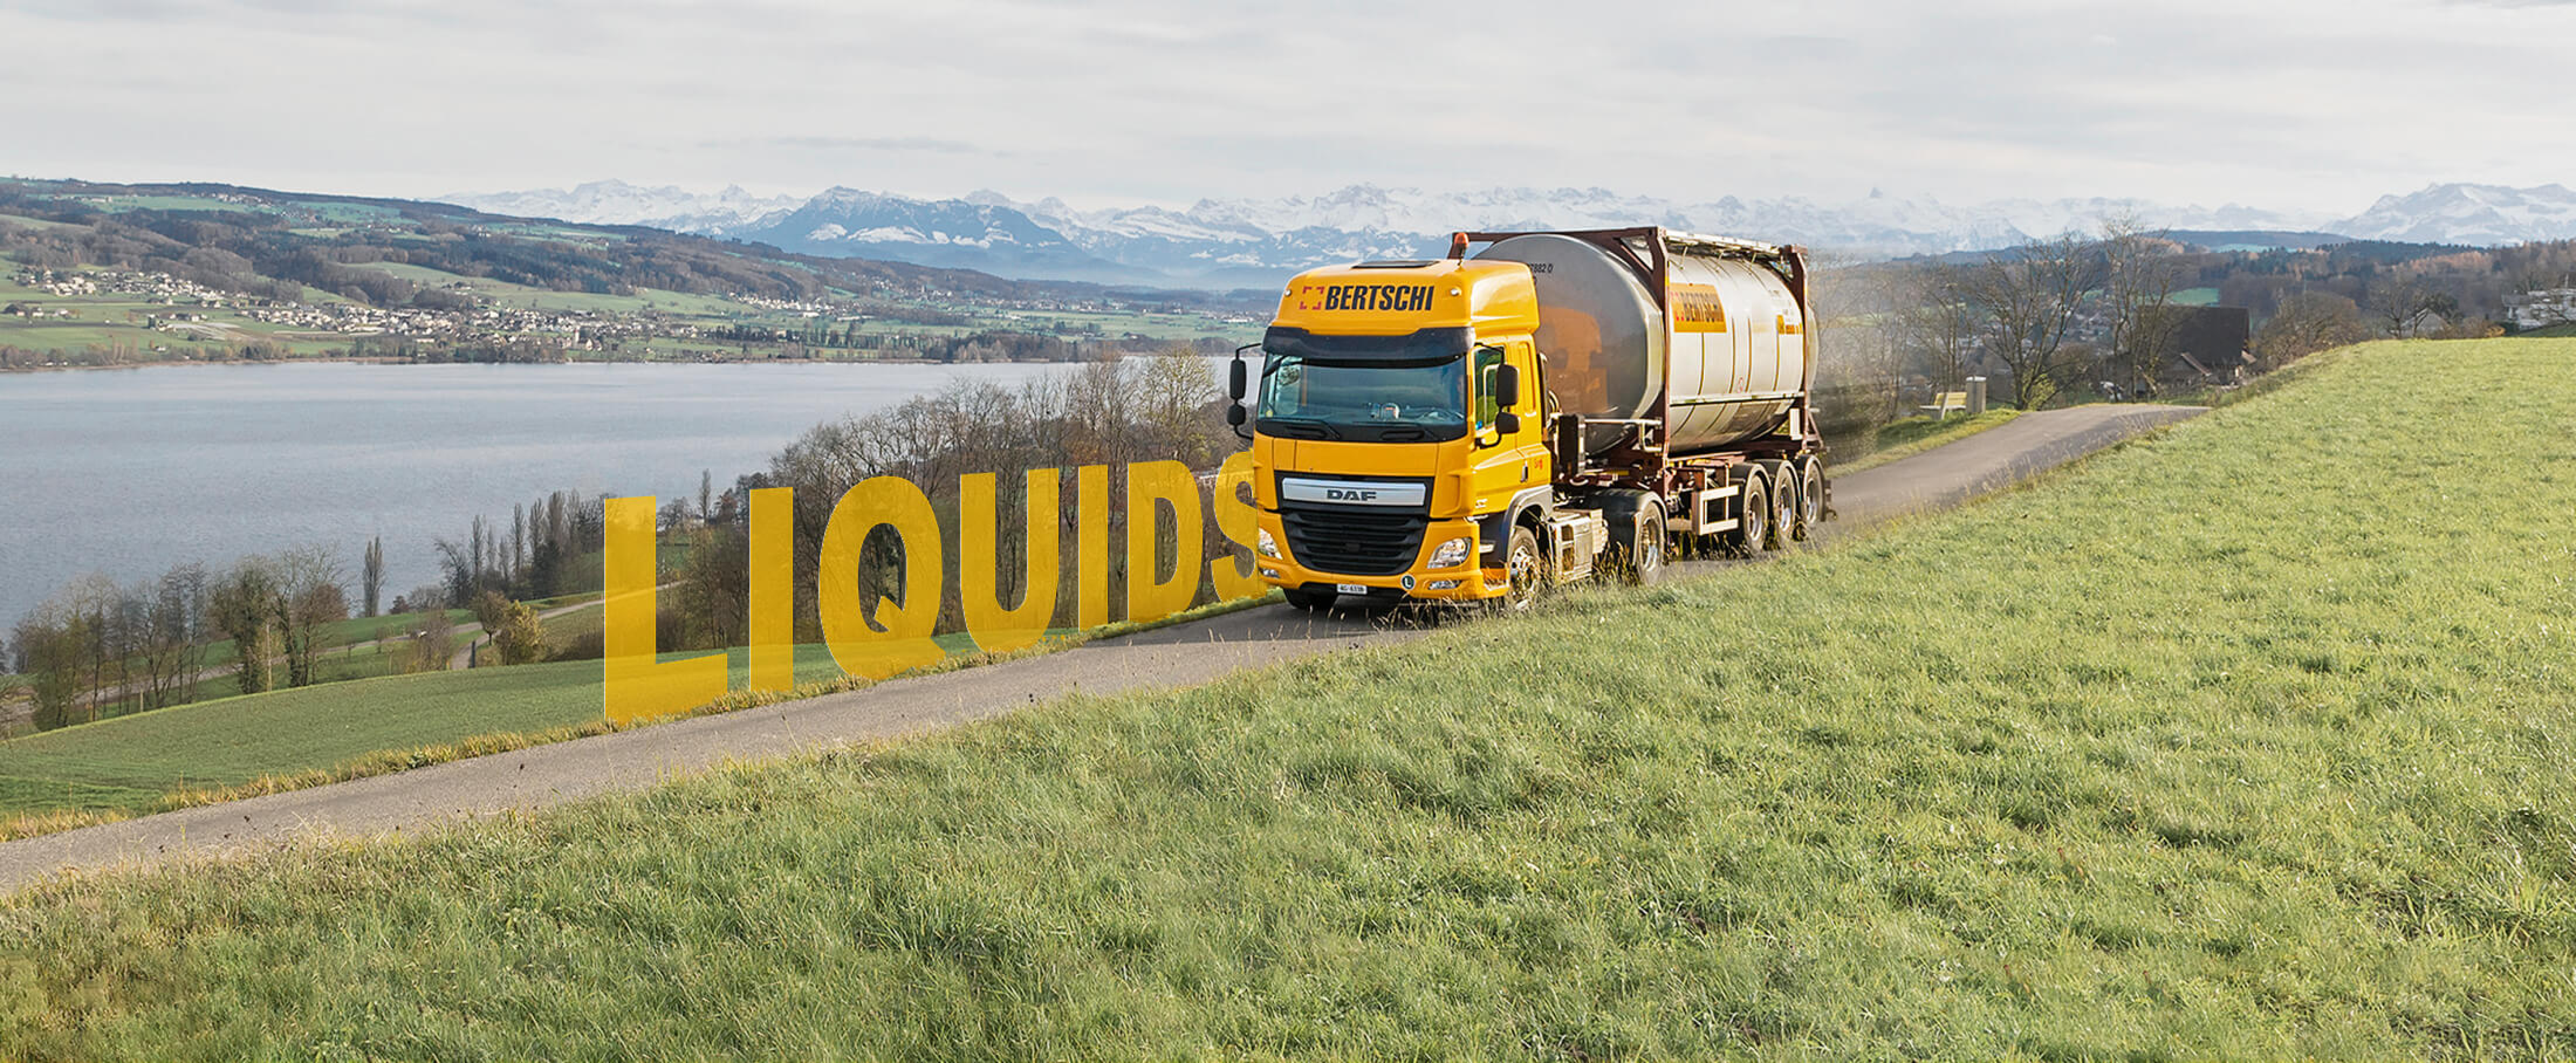
[[[2563,1058],[2571,368],[2372,345],[1775,564],[46,885],[0,1055]]]

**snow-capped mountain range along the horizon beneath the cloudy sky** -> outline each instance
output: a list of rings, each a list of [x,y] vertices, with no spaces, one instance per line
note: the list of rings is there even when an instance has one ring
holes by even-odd
[[[2447,183],[2383,196],[2336,219],[2254,206],[2166,206],[2138,198],[2007,198],[1950,206],[1873,190],[1844,203],[1716,198],[1682,203],[1607,188],[1489,188],[1427,193],[1350,185],[1327,196],[1203,198],[1188,208],[1072,208],[976,190],[912,198],[827,188],[817,196],[696,193],[598,180],[567,190],[443,196],[477,211],[585,224],[641,224],[762,242],[791,252],[974,268],[1007,278],[1270,286],[1280,275],[1355,257],[1435,255],[1455,229],[1587,229],[1662,224],[1757,234],[1852,257],[1947,255],[2032,237],[2092,232],[2133,216],[2169,232],[2282,232],[2432,245],[2576,239],[2576,190]]]

